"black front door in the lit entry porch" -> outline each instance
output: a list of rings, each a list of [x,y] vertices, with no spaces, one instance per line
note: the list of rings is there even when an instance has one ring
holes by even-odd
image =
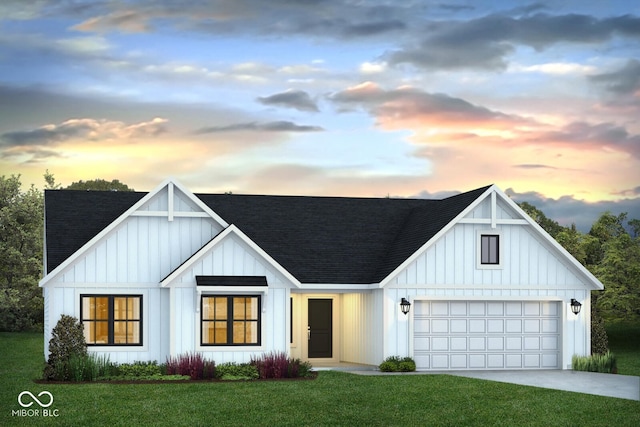
[[[333,300],[309,299],[309,359],[333,357]]]

